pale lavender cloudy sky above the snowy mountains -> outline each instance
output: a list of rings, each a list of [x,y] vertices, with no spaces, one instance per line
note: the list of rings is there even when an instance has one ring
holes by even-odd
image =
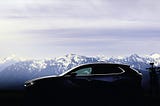
[[[159,0],[0,0],[0,57],[160,53]]]

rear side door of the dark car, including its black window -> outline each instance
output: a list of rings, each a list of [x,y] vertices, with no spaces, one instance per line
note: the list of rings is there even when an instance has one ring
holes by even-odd
[[[97,65],[93,67],[89,78],[93,88],[109,88],[116,86],[117,82],[123,80],[124,70],[116,66]]]

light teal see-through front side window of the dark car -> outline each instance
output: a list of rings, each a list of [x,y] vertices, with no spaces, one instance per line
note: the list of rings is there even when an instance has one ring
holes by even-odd
[[[92,73],[92,68],[91,67],[82,68],[77,70],[75,73],[76,73],[76,76],[90,75]]]

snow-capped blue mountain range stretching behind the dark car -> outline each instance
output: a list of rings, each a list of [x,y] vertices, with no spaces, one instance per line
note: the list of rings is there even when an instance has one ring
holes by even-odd
[[[68,54],[54,59],[23,59],[11,56],[0,59],[0,88],[23,84],[26,80],[33,78],[58,75],[75,66],[95,63],[120,63],[128,64],[141,72],[147,71],[151,62],[155,66],[160,66],[160,54],[153,53],[151,55],[139,56],[132,54],[127,57],[105,57],[105,56],[81,56],[76,54]]]

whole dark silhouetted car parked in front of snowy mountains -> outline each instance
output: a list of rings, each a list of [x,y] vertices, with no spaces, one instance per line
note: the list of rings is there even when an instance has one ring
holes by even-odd
[[[28,98],[35,103],[102,103],[114,98],[139,95],[142,74],[123,64],[84,64],[59,76],[47,76],[25,82]],[[111,99],[112,98],[112,99]],[[111,100],[110,100],[111,99]],[[124,99],[124,98],[123,98]],[[30,102],[31,102],[30,101]]]

